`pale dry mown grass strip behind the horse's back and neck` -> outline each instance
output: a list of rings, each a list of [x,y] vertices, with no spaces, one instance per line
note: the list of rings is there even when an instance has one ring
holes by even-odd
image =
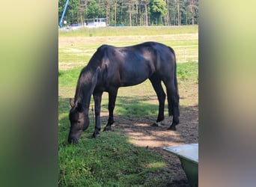
[[[171,46],[176,53],[178,63],[198,61],[198,33],[154,36],[59,37],[58,68],[59,70],[72,70],[84,67],[102,44],[130,46],[145,41],[156,41]]]

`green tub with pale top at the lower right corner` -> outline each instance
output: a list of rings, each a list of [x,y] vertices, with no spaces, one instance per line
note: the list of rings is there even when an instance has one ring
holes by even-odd
[[[179,157],[190,186],[198,186],[198,144],[163,147],[163,149]]]

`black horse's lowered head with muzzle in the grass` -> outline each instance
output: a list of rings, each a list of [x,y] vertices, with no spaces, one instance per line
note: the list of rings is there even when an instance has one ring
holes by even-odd
[[[88,112],[85,111],[82,104],[74,102],[70,99],[70,133],[68,135],[68,142],[78,143],[82,132],[89,126]]]

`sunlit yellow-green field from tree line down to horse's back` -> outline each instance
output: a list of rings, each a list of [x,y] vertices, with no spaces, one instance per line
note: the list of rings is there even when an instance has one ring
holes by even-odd
[[[91,31],[96,33],[95,37],[88,37],[88,32]],[[115,35],[115,33],[119,34]],[[109,35],[106,36],[106,34]],[[150,40],[171,46],[175,50],[177,62],[198,61],[198,26],[100,28],[98,30],[87,28],[81,31],[59,33],[59,69],[84,67],[102,44],[129,46]]]

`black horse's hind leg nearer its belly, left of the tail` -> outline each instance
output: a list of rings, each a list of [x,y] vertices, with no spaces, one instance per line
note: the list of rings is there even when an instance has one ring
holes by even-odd
[[[150,82],[153,85],[153,89],[156,91],[156,95],[159,101],[159,111],[158,111],[158,117],[156,119],[156,123],[161,122],[164,120],[164,109],[165,109],[165,92],[162,89],[161,85],[161,79],[157,76],[150,77]]]

